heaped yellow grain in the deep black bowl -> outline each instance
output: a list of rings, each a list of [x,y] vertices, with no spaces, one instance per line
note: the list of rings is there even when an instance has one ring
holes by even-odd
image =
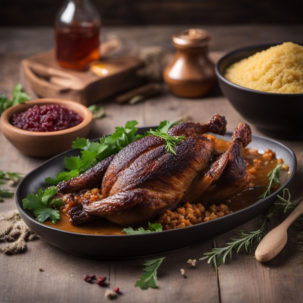
[[[292,42],[272,46],[226,69],[229,81],[261,92],[303,93],[303,46]]]

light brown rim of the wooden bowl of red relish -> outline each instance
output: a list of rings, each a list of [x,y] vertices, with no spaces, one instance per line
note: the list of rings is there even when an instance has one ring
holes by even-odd
[[[75,125],[70,128],[62,129],[60,131],[54,131],[54,132],[31,132],[27,131],[18,127],[15,127],[10,123],[10,119],[12,118],[12,115],[25,112],[28,108],[33,107],[34,105],[46,105],[46,104],[58,104],[62,105],[68,109],[72,109],[78,114],[80,114],[83,118],[83,121],[80,122],[78,125]],[[10,130],[12,132],[18,133],[20,135],[26,135],[26,136],[35,136],[35,137],[51,137],[51,136],[60,136],[60,135],[66,135],[68,133],[77,132],[78,130],[85,128],[87,125],[89,125],[92,122],[93,116],[92,112],[81,103],[72,101],[72,100],[62,100],[62,99],[54,99],[54,98],[42,98],[42,99],[35,99],[31,101],[26,101],[24,103],[12,106],[5,110],[5,112],[0,117],[0,125],[5,126],[7,130]]]

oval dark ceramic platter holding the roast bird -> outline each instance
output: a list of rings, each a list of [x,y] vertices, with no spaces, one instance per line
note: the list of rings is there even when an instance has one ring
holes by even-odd
[[[143,133],[147,130],[149,128],[140,128],[139,132]],[[231,135],[228,132],[225,136],[218,137],[230,140]],[[288,181],[283,184],[283,186],[287,187],[297,167],[294,153],[288,147],[275,140],[255,135],[253,135],[249,147],[256,148],[259,151],[270,148],[276,152],[278,158],[283,158],[291,171]],[[22,199],[29,193],[37,192],[39,188],[46,188],[45,178],[54,176],[64,170],[64,157],[77,156],[79,154],[79,150],[69,150],[35,168],[19,183],[15,197],[19,213],[32,231],[52,245],[82,257],[127,259],[182,249],[206,241],[251,220],[266,211],[275,201],[276,195],[282,191],[282,188],[280,188],[269,197],[253,205],[215,220],[185,228],[141,235],[87,235],[62,231],[36,221],[31,211],[22,208]]]

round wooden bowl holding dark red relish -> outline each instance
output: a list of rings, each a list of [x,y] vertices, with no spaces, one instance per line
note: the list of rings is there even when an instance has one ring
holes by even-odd
[[[34,105],[58,104],[79,113],[83,121],[71,128],[55,132],[30,132],[13,126],[10,121],[14,114],[25,112]],[[68,100],[44,98],[27,101],[8,108],[0,117],[3,135],[19,151],[28,156],[52,157],[72,148],[77,137],[86,137],[92,126],[92,113],[84,105]]]

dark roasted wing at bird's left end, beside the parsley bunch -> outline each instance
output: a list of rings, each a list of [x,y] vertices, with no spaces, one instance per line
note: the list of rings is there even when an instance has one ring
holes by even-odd
[[[60,182],[57,185],[58,192],[68,194],[86,188],[99,187],[102,183],[105,171],[113,157],[114,155],[100,161],[98,164],[88,169],[85,171],[85,173],[79,175],[78,177]]]

